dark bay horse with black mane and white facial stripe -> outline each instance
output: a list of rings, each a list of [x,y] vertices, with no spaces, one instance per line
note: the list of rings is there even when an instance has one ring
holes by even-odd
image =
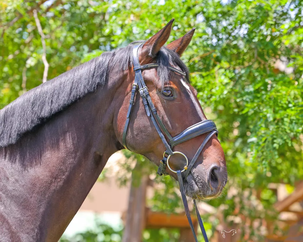
[[[167,160],[160,170],[176,180],[174,171],[191,166],[183,190],[192,198],[221,193],[227,169],[213,135],[217,131],[196,134],[171,148],[165,145],[171,140],[168,134],[161,136],[151,120],[156,113],[171,137],[207,121],[180,59],[195,29],[165,46],[173,21],[149,40],[104,52],[0,110],[0,241],[58,241],[108,158],[125,148],[155,165],[169,156],[169,168]],[[155,64],[140,69],[146,96],[142,88],[132,91],[137,75],[134,46],[139,46],[140,66]],[[149,116],[141,94],[154,104]],[[158,118],[155,122],[160,124]],[[194,164],[185,165],[194,158]]]

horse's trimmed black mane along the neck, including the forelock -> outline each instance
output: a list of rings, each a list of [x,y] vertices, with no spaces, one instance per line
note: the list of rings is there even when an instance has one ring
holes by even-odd
[[[135,42],[143,43],[143,42]],[[38,87],[29,90],[15,101],[0,110],[0,147],[14,144],[27,132],[43,124],[55,113],[75,103],[88,93],[102,87],[113,66],[127,70],[132,65],[133,45],[104,52],[78,67],[69,70]],[[158,80],[163,87],[169,80],[169,63],[177,65],[186,72],[188,69],[178,54],[162,47],[157,56]]]

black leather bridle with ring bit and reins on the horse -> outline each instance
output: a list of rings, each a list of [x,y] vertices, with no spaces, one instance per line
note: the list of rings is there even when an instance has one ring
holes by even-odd
[[[185,213],[186,213],[186,217],[188,219],[189,225],[191,227],[191,231],[194,235],[195,241],[198,242],[197,240],[197,236],[195,233],[195,229],[194,226],[192,224],[191,221],[191,217],[190,217],[190,213],[189,213],[189,208],[188,208],[188,203],[187,203],[187,199],[186,199],[186,195],[185,195],[185,191],[184,191],[184,184],[183,184],[183,180],[185,181],[185,179],[187,178],[189,172],[191,171],[191,169],[193,168],[193,166],[195,165],[195,162],[198,159],[198,156],[200,155],[200,153],[202,152],[203,148],[205,147],[206,143],[208,142],[208,140],[211,138],[211,136],[213,136],[214,134],[216,134],[218,136],[218,130],[217,127],[215,125],[215,123],[212,120],[204,120],[201,121],[199,123],[194,124],[193,126],[185,129],[183,132],[181,132],[179,135],[175,136],[175,137],[171,137],[171,135],[169,134],[168,130],[165,128],[164,124],[162,123],[157,110],[151,100],[151,97],[149,95],[148,92],[148,88],[143,80],[142,77],[142,69],[146,69],[146,68],[155,68],[158,66],[158,64],[146,64],[146,65],[140,65],[139,63],[139,58],[138,58],[138,50],[141,47],[141,45],[137,45],[133,48],[133,64],[134,64],[134,71],[135,71],[135,81],[132,85],[132,95],[131,95],[131,99],[129,100],[129,107],[128,107],[128,112],[126,115],[126,122],[125,122],[125,126],[124,126],[124,130],[123,130],[123,136],[122,136],[122,142],[123,142],[123,146],[125,147],[125,149],[128,149],[126,146],[126,134],[127,134],[127,129],[128,129],[128,124],[129,124],[129,120],[131,117],[131,113],[132,113],[132,108],[133,105],[135,103],[135,93],[137,92],[137,88],[139,88],[139,93],[140,96],[142,98],[144,107],[145,107],[145,111],[148,117],[151,118],[151,121],[153,122],[164,146],[166,147],[166,151],[163,154],[163,159],[160,161],[160,165],[157,171],[157,174],[160,176],[163,175],[168,175],[167,172],[165,172],[165,168],[166,166],[168,167],[169,170],[171,170],[171,172],[177,173],[178,176],[178,181],[179,181],[179,185],[180,185],[180,191],[181,191],[181,196],[182,196],[182,200],[183,200],[183,204],[184,204],[184,208],[185,208]],[[186,73],[183,71],[180,71],[174,67],[168,66],[168,69],[182,75],[182,76],[186,76]],[[157,121],[158,123],[157,123]],[[158,125],[159,124],[159,125]],[[165,133],[165,135],[167,136],[167,138],[169,139],[169,141],[167,142],[167,140],[165,139],[165,136],[163,135],[162,131]],[[199,136],[201,134],[207,133],[209,132],[208,136],[206,136],[206,138],[204,139],[204,141],[202,142],[201,146],[199,147],[199,149],[197,150],[194,158],[191,160],[191,162],[188,164],[188,159],[186,157],[185,154],[183,154],[182,152],[178,152],[178,151],[172,151],[172,148],[182,142],[185,142],[189,139],[192,139],[196,136]],[[186,165],[184,166],[184,168],[181,170],[177,170],[174,171],[171,169],[171,167],[169,166],[169,159],[172,155],[174,154],[181,154],[185,157],[186,159]],[[183,174],[183,176],[182,176]],[[196,208],[196,213],[197,213],[197,217],[198,217],[198,223],[200,225],[204,240],[206,242],[208,242],[208,238],[203,226],[203,222],[201,219],[201,216],[199,214],[197,205],[196,205],[196,201],[194,200],[194,204],[195,204],[195,208]]]

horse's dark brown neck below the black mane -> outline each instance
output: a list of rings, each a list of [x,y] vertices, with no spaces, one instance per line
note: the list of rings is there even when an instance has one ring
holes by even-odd
[[[0,152],[0,230],[13,224],[21,241],[58,241],[110,155],[121,149],[114,92],[112,85],[88,94]]]

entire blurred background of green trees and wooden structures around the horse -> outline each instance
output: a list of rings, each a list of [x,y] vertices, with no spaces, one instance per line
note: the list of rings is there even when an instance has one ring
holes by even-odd
[[[223,194],[198,204],[210,240],[303,241],[300,0],[0,0],[0,108],[43,74],[146,40],[171,18],[168,43],[196,28],[182,60],[226,155]],[[60,241],[117,242],[125,233],[193,241],[175,181],[128,151],[112,155]]]

